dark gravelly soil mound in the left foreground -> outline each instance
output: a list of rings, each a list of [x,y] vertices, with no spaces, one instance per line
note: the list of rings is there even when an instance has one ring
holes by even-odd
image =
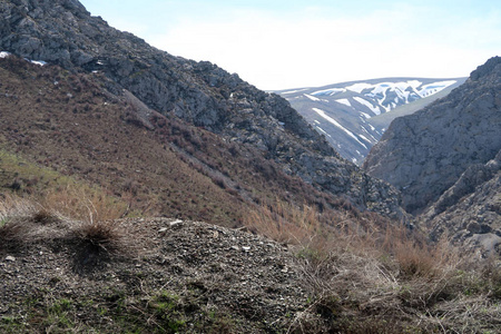
[[[31,242],[0,248],[2,328],[16,333],[274,333],[307,306],[287,246],[242,230],[127,219],[99,244],[77,223],[22,224],[14,235]]]

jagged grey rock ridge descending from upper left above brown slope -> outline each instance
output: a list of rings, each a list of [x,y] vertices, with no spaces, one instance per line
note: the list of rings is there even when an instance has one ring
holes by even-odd
[[[76,0],[0,2],[0,49],[75,71],[99,71],[149,108],[250,144],[291,175],[358,208],[402,215],[397,193],[342,159],[289,104],[209,62],[174,57],[109,27]],[[131,97],[130,97],[131,98]],[[147,121],[145,120],[147,124]]]

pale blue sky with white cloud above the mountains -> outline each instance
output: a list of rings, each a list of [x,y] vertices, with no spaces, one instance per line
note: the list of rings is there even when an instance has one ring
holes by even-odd
[[[501,56],[499,0],[80,0],[175,56],[279,90],[468,77]]]

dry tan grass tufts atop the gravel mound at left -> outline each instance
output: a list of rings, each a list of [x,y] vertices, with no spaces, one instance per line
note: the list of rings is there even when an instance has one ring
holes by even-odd
[[[132,255],[134,234],[119,219],[126,207],[102,193],[66,187],[40,202],[4,195],[0,200],[0,247],[22,247],[41,239],[73,239],[100,254]]]

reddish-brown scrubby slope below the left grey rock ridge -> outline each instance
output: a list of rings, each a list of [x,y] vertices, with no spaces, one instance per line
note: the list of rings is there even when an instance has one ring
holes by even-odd
[[[112,84],[99,75],[7,58],[0,82],[1,147],[99,185],[140,214],[237,226],[266,198],[334,203],[252,147],[153,110],[155,129],[148,129],[137,107],[109,94],[104,87]],[[6,177],[2,186],[16,178]]]

